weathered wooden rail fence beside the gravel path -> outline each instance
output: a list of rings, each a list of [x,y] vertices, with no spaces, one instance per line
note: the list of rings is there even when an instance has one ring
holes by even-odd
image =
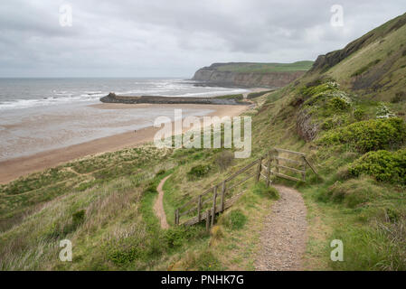
[[[317,174],[315,167],[308,162],[306,154],[274,148],[175,210],[175,225],[191,226],[205,220],[208,230],[214,223],[215,215],[230,208],[241,197],[243,191],[236,192],[235,189],[242,183],[250,178],[259,182],[262,177],[269,186],[272,175],[290,181],[306,182],[307,166]],[[295,175],[289,175],[289,172]]]

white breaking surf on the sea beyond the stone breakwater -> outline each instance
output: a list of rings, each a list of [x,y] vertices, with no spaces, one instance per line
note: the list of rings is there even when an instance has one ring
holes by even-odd
[[[71,81],[71,80],[70,80]],[[110,91],[123,96],[164,96],[164,97],[214,97],[227,94],[237,94],[248,91],[247,89],[227,89],[213,87],[194,87],[193,80],[185,79],[146,79],[136,80],[129,83],[119,82],[101,82],[97,84],[83,84],[82,80],[77,85],[66,86],[61,83],[48,83],[45,87],[38,88],[33,86],[30,89],[32,98],[20,99],[18,95],[26,96],[27,90],[5,91],[0,93],[0,110],[28,108],[28,107],[45,107],[65,103],[97,101],[99,98],[109,94]],[[65,87],[63,87],[65,85]],[[53,86],[53,87],[51,87]],[[48,88],[51,87],[49,90]],[[13,97],[11,97],[13,96]]]

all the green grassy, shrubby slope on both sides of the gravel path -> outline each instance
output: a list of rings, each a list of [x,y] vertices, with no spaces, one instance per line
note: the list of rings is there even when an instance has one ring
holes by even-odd
[[[263,183],[205,233],[175,208],[270,148],[306,153],[319,176],[294,186],[307,205],[307,270],[406,270],[406,14],[320,56],[283,89],[254,98],[252,154],[152,146],[89,156],[0,188],[2,270],[254,269],[275,199]],[[166,175],[163,230],[152,210]],[[73,261],[58,258],[59,241]],[[341,239],[344,261],[330,260]]]

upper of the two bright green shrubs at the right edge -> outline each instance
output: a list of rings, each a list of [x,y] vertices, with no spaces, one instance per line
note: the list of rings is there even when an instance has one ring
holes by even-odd
[[[360,153],[399,146],[406,140],[406,126],[399,117],[370,119],[335,129],[320,144],[354,144]]]

